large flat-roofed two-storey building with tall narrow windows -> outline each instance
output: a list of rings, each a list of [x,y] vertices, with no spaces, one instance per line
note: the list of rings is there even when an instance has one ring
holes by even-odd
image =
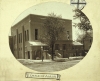
[[[42,55],[45,59],[50,59],[51,55],[48,54],[45,49],[48,45],[41,43],[39,40],[39,37],[43,33],[42,27],[46,18],[48,17],[30,14],[11,27],[11,36],[13,37],[13,49],[11,48],[11,50],[17,59],[41,59]],[[62,50],[59,45],[63,45],[64,50],[71,50],[72,20],[60,20],[64,22],[67,35],[63,35],[62,38],[55,43],[55,50]],[[58,48],[56,48],[57,44],[59,46]],[[67,47],[66,44],[69,46]],[[65,47],[67,47],[67,49]],[[63,57],[66,57],[66,55]]]

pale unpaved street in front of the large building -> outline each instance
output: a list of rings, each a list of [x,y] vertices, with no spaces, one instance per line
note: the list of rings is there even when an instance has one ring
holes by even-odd
[[[38,61],[38,62],[37,62]],[[67,68],[70,68],[80,62],[81,60],[69,60],[66,62],[55,62],[55,61],[48,61],[44,60],[37,60],[36,62],[28,62],[22,63],[26,67],[40,71],[40,72],[54,72],[54,71],[61,71]]]

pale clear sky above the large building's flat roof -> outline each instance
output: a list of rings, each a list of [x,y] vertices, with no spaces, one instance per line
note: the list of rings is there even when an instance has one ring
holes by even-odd
[[[28,8],[24,12],[22,12],[14,21],[12,26],[16,23],[18,23],[20,20],[25,18],[29,14],[37,14],[37,15],[43,15],[48,16],[49,13],[55,13],[56,15],[61,15],[64,19],[70,19],[72,22],[79,22],[78,20],[73,20],[74,12],[73,10],[75,7],[68,5],[66,3],[61,2],[46,2],[41,3],[38,5],[35,5],[33,7]],[[77,38],[76,32],[77,28],[73,27],[73,40]]]

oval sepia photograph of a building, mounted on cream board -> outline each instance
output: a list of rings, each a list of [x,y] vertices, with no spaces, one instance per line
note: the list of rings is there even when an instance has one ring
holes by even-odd
[[[9,33],[13,56],[40,72],[61,71],[76,65],[88,54],[92,41],[88,17],[74,6],[59,2],[25,10]]]

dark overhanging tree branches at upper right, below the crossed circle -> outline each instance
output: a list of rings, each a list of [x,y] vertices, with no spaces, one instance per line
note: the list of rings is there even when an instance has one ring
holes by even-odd
[[[80,22],[74,23],[74,27],[78,27],[81,30],[84,30],[85,32],[92,30],[91,23],[89,19],[86,17],[86,15],[79,9],[73,10],[75,12],[75,15],[73,16],[74,19],[79,19]]]

